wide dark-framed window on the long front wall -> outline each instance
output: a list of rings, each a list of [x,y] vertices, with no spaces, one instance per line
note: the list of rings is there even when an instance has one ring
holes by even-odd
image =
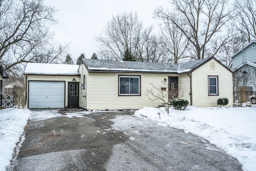
[[[122,76],[119,75],[119,93],[118,95],[140,95],[140,76]]]

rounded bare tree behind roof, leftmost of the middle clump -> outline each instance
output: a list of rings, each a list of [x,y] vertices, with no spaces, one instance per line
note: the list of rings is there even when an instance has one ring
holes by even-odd
[[[124,52],[124,58],[126,55],[134,57],[142,32],[142,22],[137,13],[125,12],[112,16],[103,33],[95,36],[95,39],[100,43],[100,51],[118,60],[121,52]]]

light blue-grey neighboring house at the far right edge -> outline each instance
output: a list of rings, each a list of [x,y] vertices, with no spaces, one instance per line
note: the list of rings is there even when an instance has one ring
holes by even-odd
[[[232,71],[247,75],[247,87],[251,87],[253,92],[256,92],[256,41],[251,41],[242,49],[237,51],[230,57],[232,59]],[[247,74],[248,73],[248,74]]]

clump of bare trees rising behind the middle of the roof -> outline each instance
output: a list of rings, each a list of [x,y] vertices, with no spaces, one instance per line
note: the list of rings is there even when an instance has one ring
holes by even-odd
[[[152,33],[153,27],[144,28],[137,13],[113,16],[103,33],[95,36],[101,59],[162,62],[166,49],[160,38]]]

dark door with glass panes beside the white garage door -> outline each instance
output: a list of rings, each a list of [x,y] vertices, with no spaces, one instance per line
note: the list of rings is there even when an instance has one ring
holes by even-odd
[[[79,107],[79,82],[68,82],[68,107]]]

